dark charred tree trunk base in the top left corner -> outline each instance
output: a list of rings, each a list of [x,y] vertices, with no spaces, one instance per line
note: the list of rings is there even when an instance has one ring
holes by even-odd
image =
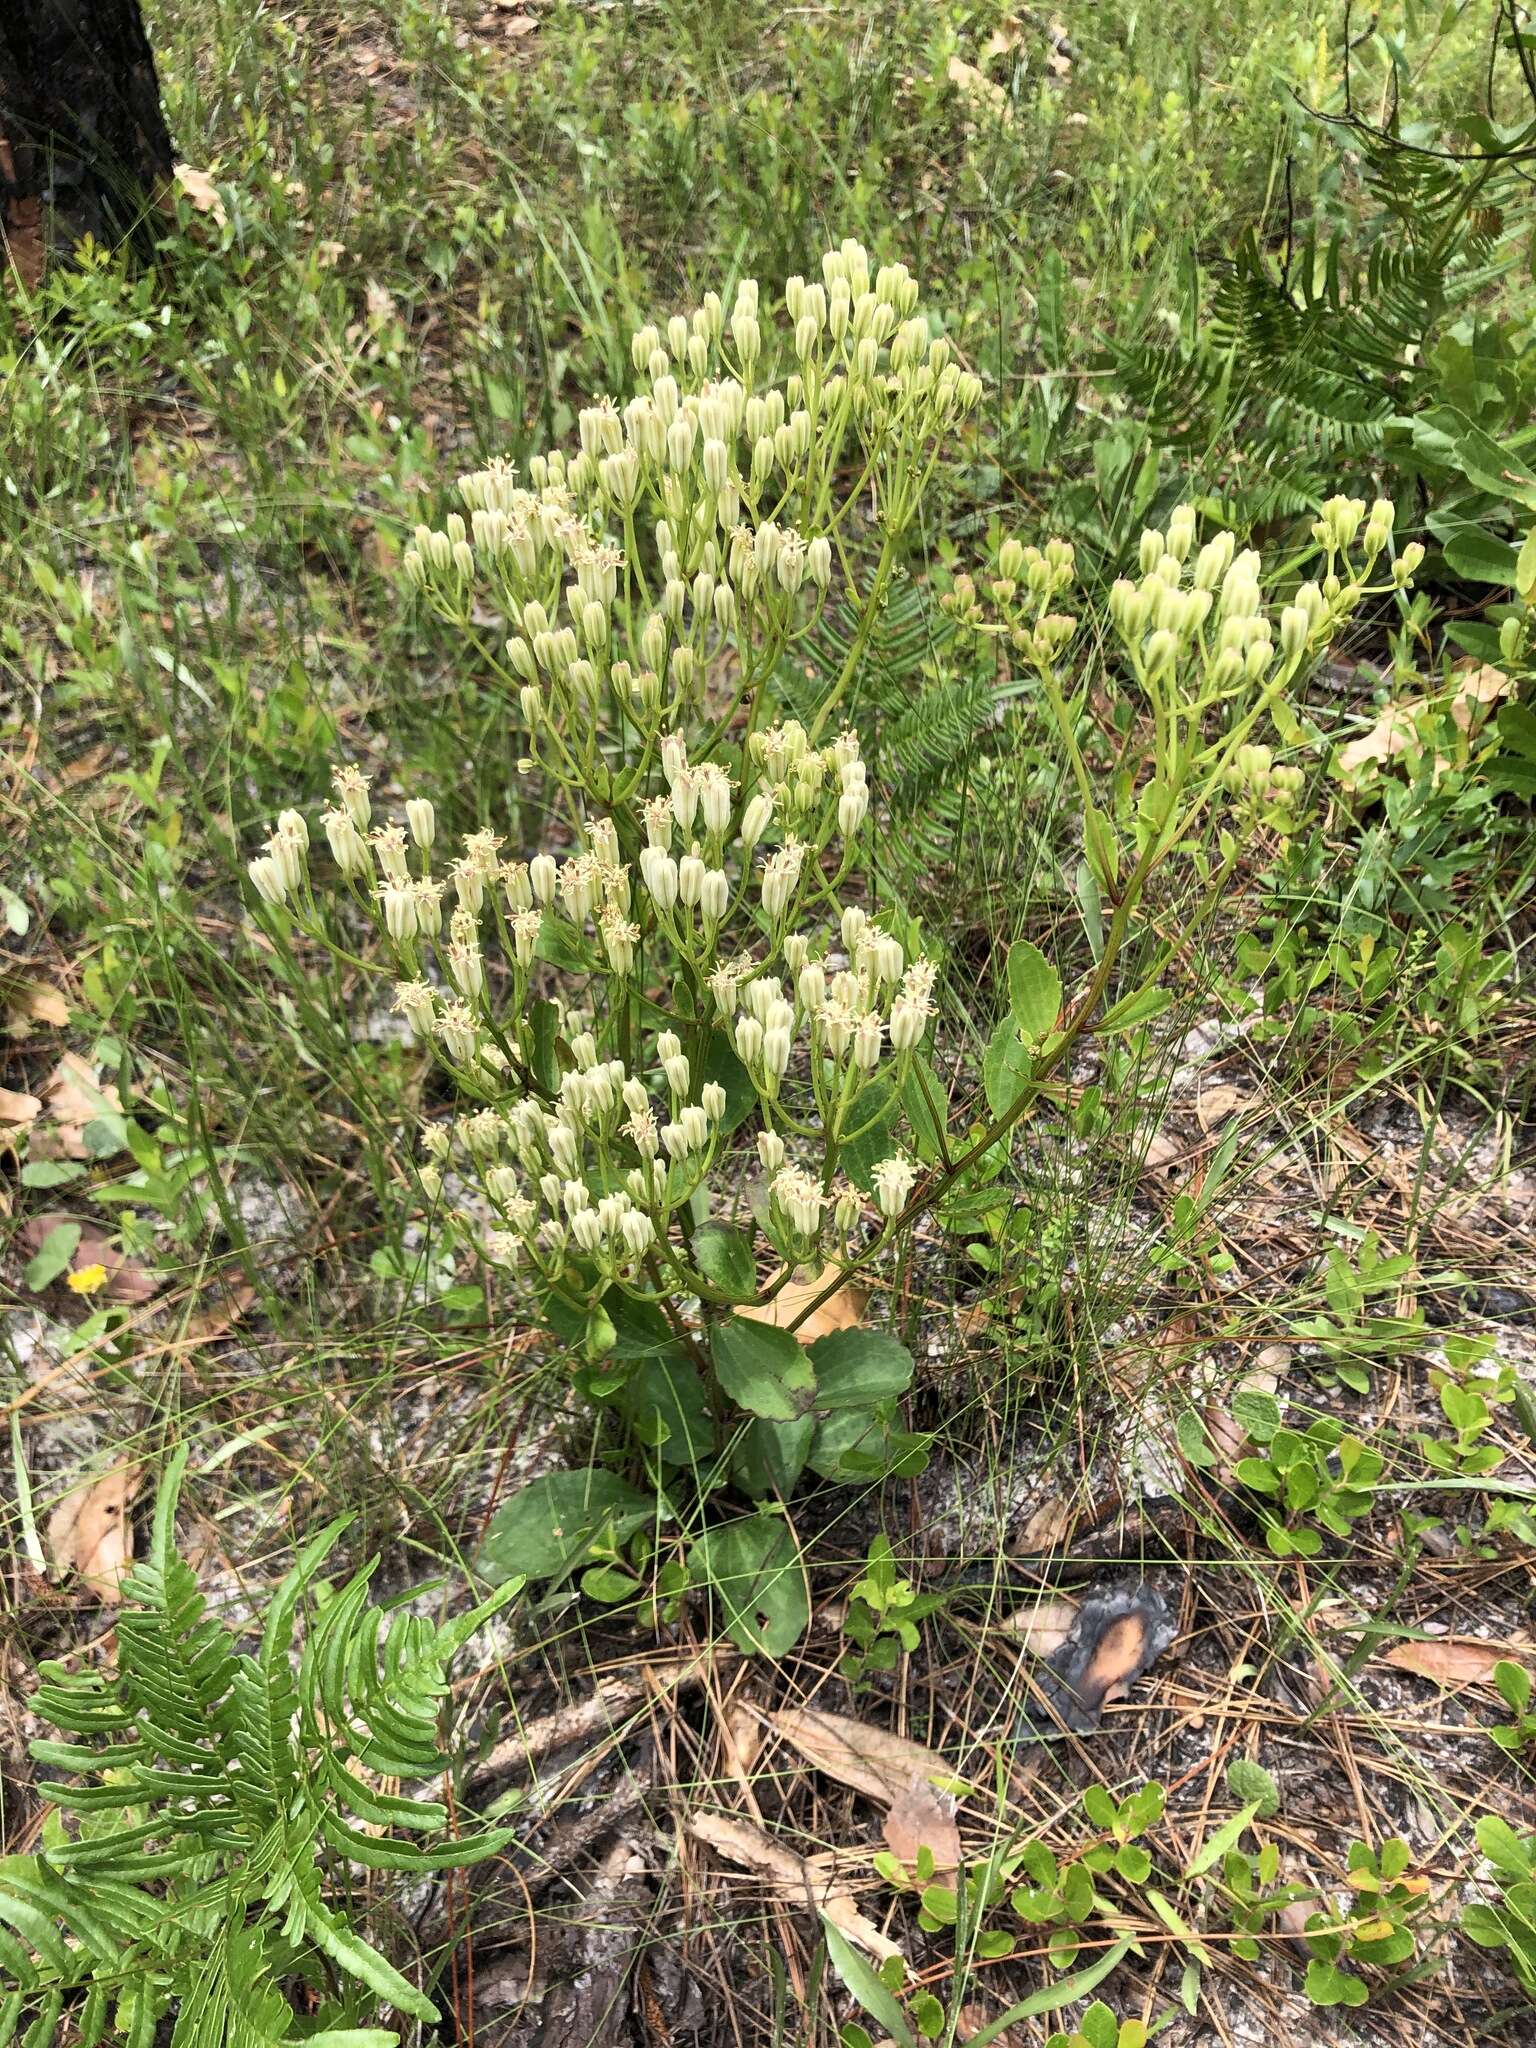
[[[139,0],[0,4],[0,219],[37,268],[51,242],[143,229],[172,174]]]

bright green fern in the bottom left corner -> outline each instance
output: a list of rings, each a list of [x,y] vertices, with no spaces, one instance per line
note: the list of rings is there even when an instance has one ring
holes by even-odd
[[[125,1581],[119,1669],[43,1673],[37,1704],[86,1741],[33,1745],[39,1763],[78,1780],[41,1790],[84,1819],[70,1837],[55,1815],[41,1855],[0,1862],[0,2048],[23,2021],[27,2048],[51,2048],[66,2023],[78,2048],[106,2034],[150,2048],[172,2005],[176,2048],[391,2048],[381,2028],[324,2025],[332,2009],[350,2019],[356,1993],[334,2007],[322,1999],[319,2030],[315,2015],[297,2030],[281,1976],[309,1952],[313,1999],[317,1952],[365,1993],[436,2017],[324,1888],[332,1862],[444,1870],[510,1839],[489,1829],[422,1841],[446,1829],[444,1808],[377,1790],[365,1774],[430,1780],[446,1767],[449,1661],[516,1583],[434,1628],[369,1608],[365,1567],[307,1626],[295,1665],[305,1595],[344,1530],[336,1522],[299,1552],[254,1653],[240,1653],[176,1552],[184,1468],[176,1454],[150,1554]],[[348,1815],[414,1839],[362,1833]]]

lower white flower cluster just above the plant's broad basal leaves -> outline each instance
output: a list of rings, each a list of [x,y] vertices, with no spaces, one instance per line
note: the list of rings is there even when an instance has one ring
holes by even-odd
[[[428,799],[406,801],[403,827],[375,823],[369,780],[346,766],[332,772],[336,801],[322,813],[336,866],[393,948],[395,1010],[483,1104],[453,1135],[430,1133],[428,1190],[442,1188],[444,1145],[457,1141],[496,1214],[489,1255],[526,1262],[551,1284],[575,1262],[590,1298],[635,1282],[653,1257],[674,1268],[672,1286],[698,1284],[670,1225],[721,1141],[725,1085],[705,1077],[717,1042],[758,1098],[780,1251],[809,1257],[827,1214],[844,1233],[858,1223],[860,1196],[836,1163],[868,1128],[870,1077],[889,1053],[899,1087],[934,1016],[934,965],[907,961],[893,932],[834,895],[870,801],[852,731],[825,748],[797,721],[754,733],[745,788],[719,762],[690,762],[676,733],[659,743],[659,770],[662,793],[590,819],[563,858],[506,860],[496,834],[473,831],[442,879]],[[827,872],[836,836],[842,856]],[[264,901],[324,938],[307,856],[303,819],[283,813],[250,877]],[[831,926],[819,924],[821,903]],[[737,928],[729,944],[727,924]],[[487,973],[489,942],[500,975]],[[563,969],[606,983],[596,1020],[539,999]],[[672,977],[676,1028],[641,1053],[637,1018],[655,1006],[657,975],[662,987]],[[817,1171],[786,1163],[784,1133],[811,1147]],[[911,1184],[907,1161],[881,1161],[881,1214],[897,1217]]]

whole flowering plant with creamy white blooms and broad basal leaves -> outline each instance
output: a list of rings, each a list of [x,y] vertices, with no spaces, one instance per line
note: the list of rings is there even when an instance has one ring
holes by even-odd
[[[1280,612],[1278,655],[1260,561],[1233,535],[1196,553],[1180,508],[1167,535],[1143,537],[1141,584],[1110,594],[1151,711],[1135,850],[1094,801],[1061,680],[1077,631],[1055,608],[1071,547],[1006,541],[991,610],[956,580],[958,618],[1038,676],[1081,791],[1094,887],[1112,905],[1067,1006],[1034,946],[1010,954],[1010,1016],[983,1071],[993,1118],[956,1155],[926,1057],[938,963],[899,909],[868,909],[879,811],[858,735],[831,717],[938,440],[979,387],[915,313],[903,266],[872,274],[846,242],[821,268],[788,283],[782,383],[762,381],[756,285],[737,287],[729,322],[709,295],[635,336],[641,389],[623,410],[586,408],[573,453],[537,457],[526,485],[506,465],[481,469],[461,483],[467,522],[418,528],[406,573],[426,602],[465,631],[500,618],[526,733],[518,766],[559,815],[549,844],[508,850],[477,829],[434,870],[432,799],[403,799],[403,823],[377,821],[356,766],[334,772],[322,815],[342,889],[377,928],[395,1010],[463,1104],[422,1133],[426,1198],[559,1339],[578,1386],[623,1415],[664,1493],[688,1470],[702,1493],[782,1501],[807,1466],[850,1479],[922,1456],[897,1427],[907,1352],[870,1329],[801,1348],[795,1325],[993,1151],[1087,1030],[1149,1014],[1155,987],[1102,1010],[1147,877],[1214,795],[1247,793],[1249,813],[1294,797],[1251,733],[1270,713],[1286,737],[1286,688],[1372,588],[1391,537],[1378,506],[1356,573],[1364,506],[1325,508],[1327,571]],[[866,500],[881,543],[860,592],[848,532]],[[854,637],[805,725],[786,715],[780,678],[834,569]],[[1231,834],[1223,844],[1208,901],[1231,868]],[[315,891],[309,850],[307,821],[285,811],[250,879],[281,946],[299,934],[340,950],[338,897]],[[1198,850],[1196,866],[1210,881]],[[774,1305],[803,1272],[815,1298],[780,1327]],[[535,1528],[537,1489],[575,1477],[524,1489],[502,1559]],[[547,1569],[594,1548],[618,1559],[618,1509],[625,1526],[649,1518],[604,1479],[596,1518],[559,1493],[545,1534],[580,1540]],[[729,1556],[705,1530],[694,1565],[743,1587],[725,1593],[739,1640],[784,1647],[801,1612],[784,1593],[799,1571],[786,1528],[772,1513],[733,1528]],[[516,1567],[532,1569],[526,1552]]]

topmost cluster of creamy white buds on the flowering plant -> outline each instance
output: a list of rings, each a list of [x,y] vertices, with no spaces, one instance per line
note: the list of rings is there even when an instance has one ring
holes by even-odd
[[[831,535],[877,487],[887,535],[915,512],[918,455],[981,395],[915,311],[905,264],[856,242],[795,276],[795,369],[762,383],[758,285],[729,317],[715,293],[631,342],[639,391],[582,408],[578,446],[459,483],[465,512],[418,526],[406,575],[451,621],[489,600],[535,748],[592,774],[594,719],[659,733],[698,711],[725,643],[741,688],[809,625],[831,582]],[[467,514],[467,516],[465,516]]]

